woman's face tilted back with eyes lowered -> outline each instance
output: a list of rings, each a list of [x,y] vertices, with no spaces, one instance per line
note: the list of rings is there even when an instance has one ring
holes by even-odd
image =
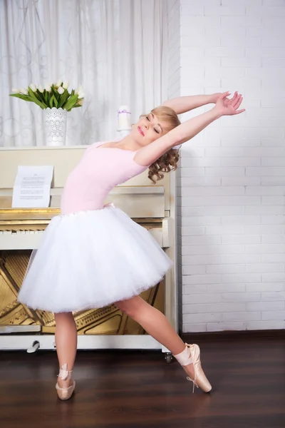
[[[167,123],[159,121],[153,113],[140,116],[140,120],[132,128],[132,136],[140,146],[147,146],[167,133]]]

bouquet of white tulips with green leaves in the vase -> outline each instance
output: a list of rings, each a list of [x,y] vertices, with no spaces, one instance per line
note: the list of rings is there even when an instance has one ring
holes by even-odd
[[[42,109],[55,107],[71,111],[72,108],[81,107],[84,99],[81,86],[76,90],[72,89],[71,92],[68,92],[68,83],[61,80],[51,85],[48,84],[45,88],[41,85],[37,88],[34,83],[31,83],[27,89],[12,88],[12,92],[14,93],[10,93],[10,96],[36,103]]]

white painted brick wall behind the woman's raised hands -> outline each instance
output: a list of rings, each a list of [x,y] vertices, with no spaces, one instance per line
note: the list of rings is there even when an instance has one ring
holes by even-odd
[[[238,90],[247,108],[181,150],[180,329],[284,328],[285,0],[169,6],[170,97]]]

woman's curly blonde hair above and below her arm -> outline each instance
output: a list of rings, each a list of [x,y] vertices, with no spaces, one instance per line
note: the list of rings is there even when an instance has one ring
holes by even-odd
[[[167,123],[167,132],[171,131],[176,126],[180,125],[180,120],[175,113],[175,111],[167,106],[160,106],[153,108],[151,113],[155,114],[157,118]],[[148,170],[148,178],[152,180],[152,183],[156,183],[158,180],[161,180],[165,173],[170,173],[172,170],[177,169],[177,162],[179,161],[178,150],[171,148],[164,155],[160,156],[152,165],[150,165]]]

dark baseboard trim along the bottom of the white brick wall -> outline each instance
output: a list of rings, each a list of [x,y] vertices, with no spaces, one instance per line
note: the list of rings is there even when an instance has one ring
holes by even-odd
[[[201,332],[201,333],[181,333],[182,340],[187,343],[195,340],[221,341],[221,340],[254,340],[254,339],[285,339],[285,330],[244,330],[244,331],[224,331],[224,332]]]

